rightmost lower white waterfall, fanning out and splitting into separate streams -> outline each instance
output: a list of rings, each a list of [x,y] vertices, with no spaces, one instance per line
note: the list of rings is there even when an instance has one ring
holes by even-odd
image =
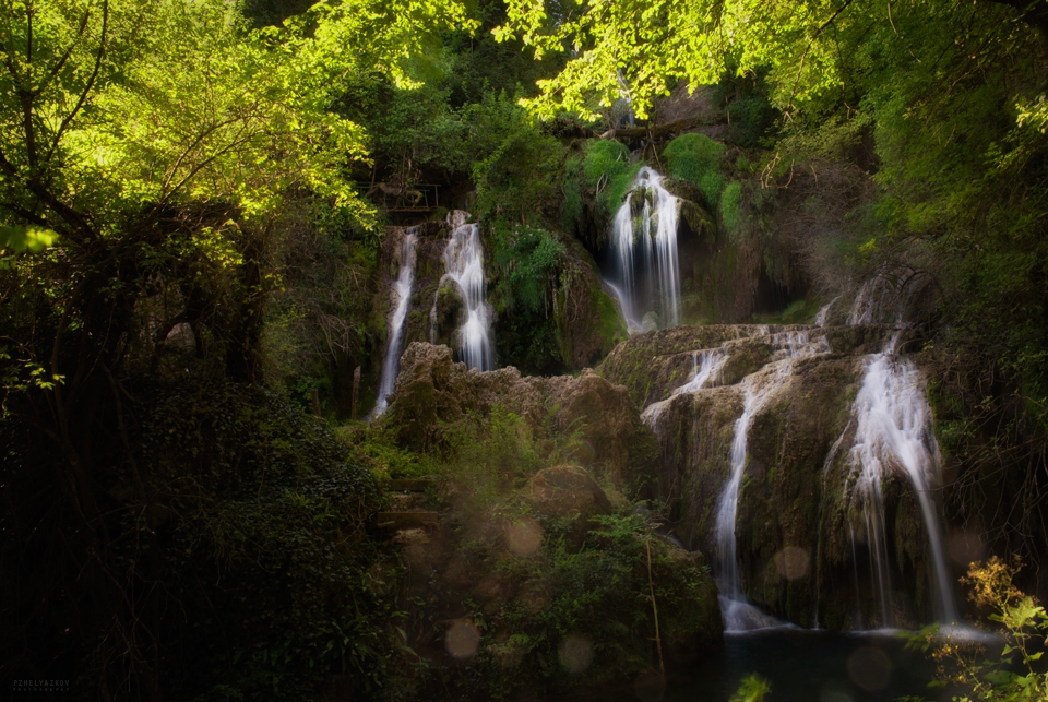
[[[920,371],[908,358],[896,356],[898,336],[896,333],[883,352],[867,360],[866,378],[851,409],[856,420],[855,442],[848,453],[849,480],[854,480],[851,505],[861,514],[866,530],[881,626],[891,626],[894,618],[881,488],[893,471],[906,475],[916,491],[931,548],[933,588],[938,595],[936,618],[952,622],[957,619],[957,611],[943,556],[939,514],[931,496],[940,480],[939,444]]]

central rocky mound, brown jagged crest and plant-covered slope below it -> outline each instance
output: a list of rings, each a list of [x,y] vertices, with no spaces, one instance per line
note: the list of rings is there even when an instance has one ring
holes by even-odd
[[[561,646],[575,631],[607,630],[622,645],[594,651],[587,675],[603,676],[597,681],[632,679],[656,655],[655,611],[636,596],[648,587],[662,598],[658,622],[667,657],[694,656],[720,644],[716,585],[702,554],[640,526],[619,490],[657,459],[654,436],[623,386],[588,369],[576,378],[522,377],[515,368],[480,372],[454,362],[446,346],[418,342],[400,368],[389,411],[374,427],[403,448],[448,451],[453,462],[464,423],[493,424],[500,407],[523,419],[526,427],[512,426],[527,433],[537,451],[557,440],[574,447],[563,464],[529,476],[513,461],[500,463],[496,469],[504,479],[498,488],[468,472],[468,479],[439,479],[433,509],[441,511],[442,528],[425,549],[405,545],[407,587],[437,608],[433,620],[472,626],[463,618],[483,611],[487,629],[466,665],[481,671],[495,665],[503,685],[531,691],[546,675],[539,663],[545,649],[520,641]],[[553,462],[544,457],[543,465]],[[487,487],[479,489],[481,484]],[[604,515],[610,521],[597,519]],[[564,616],[572,618],[567,634]],[[409,645],[438,656],[448,640],[433,631]]]

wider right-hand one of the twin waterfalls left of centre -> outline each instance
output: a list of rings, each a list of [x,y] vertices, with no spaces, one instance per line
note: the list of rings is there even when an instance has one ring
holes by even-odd
[[[465,295],[466,321],[458,330],[462,360],[469,368],[491,370],[495,368],[495,347],[491,343],[490,312],[484,295],[480,225],[466,224],[468,218],[469,213],[462,210],[448,215],[452,233],[444,248],[444,265],[448,277],[457,283]]]

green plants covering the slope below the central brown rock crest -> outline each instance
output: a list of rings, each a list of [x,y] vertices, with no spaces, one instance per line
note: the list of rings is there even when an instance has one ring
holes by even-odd
[[[707,569],[658,537],[645,510],[623,504],[587,521],[528,502],[527,481],[537,472],[585,450],[577,431],[558,429],[552,416],[532,428],[496,406],[489,419],[457,427],[451,443],[434,475],[453,562],[413,592],[438,602],[417,612],[422,622],[450,607],[479,630],[476,655],[443,679],[454,693],[507,699],[520,690],[565,691],[653,667],[651,590],[664,646],[687,646],[696,632],[708,633],[708,598],[716,594]],[[509,535],[521,528],[540,540],[514,550]],[[562,655],[569,638],[592,654],[575,670]]]

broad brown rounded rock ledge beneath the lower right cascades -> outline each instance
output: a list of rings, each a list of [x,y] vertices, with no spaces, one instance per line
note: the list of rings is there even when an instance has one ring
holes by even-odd
[[[642,416],[660,450],[652,497],[670,505],[681,542],[711,562],[718,557],[717,515],[738,421],[743,406],[762,396],[747,433],[735,538],[742,592],[776,617],[831,629],[886,623],[871,584],[871,532],[853,497],[849,452],[867,355],[879,353],[891,331],[677,328],[633,337],[600,368],[646,407]],[[722,354],[719,372],[701,389],[675,393],[693,379],[696,356],[711,349]],[[889,476],[880,487],[889,619],[916,624],[932,617],[928,535],[913,485],[902,471]]]

